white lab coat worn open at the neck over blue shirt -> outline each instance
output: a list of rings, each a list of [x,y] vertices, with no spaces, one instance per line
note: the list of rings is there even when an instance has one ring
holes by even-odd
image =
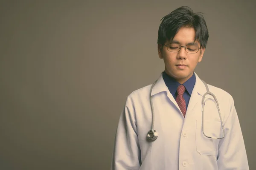
[[[111,170],[249,170],[244,140],[233,98],[208,85],[218,99],[224,139],[209,139],[202,132],[204,83],[195,74],[185,118],[165,85],[162,74],[152,90],[158,138],[146,139],[151,129],[151,85],[132,92],[125,103],[116,131]],[[221,122],[212,96],[207,95],[204,131],[222,137]]]

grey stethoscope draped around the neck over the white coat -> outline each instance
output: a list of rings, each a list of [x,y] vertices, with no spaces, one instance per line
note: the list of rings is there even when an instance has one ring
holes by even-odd
[[[153,106],[152,96],[151,96],[152,89],[153,89],[154,85],[156,84],[156,82],[157,82],[157,80],[151,85],[150,96],[149,96],[150,106],[151,106],[151,113],[152,113],[152,124],[151,124],[151,130],[149,130],[148,133],[147,133],[147,139],[151,142],[155,141],[158,137],[158,133],[154,129],[154,106]],[[204,133],[204,107],[205,107],[205,102],[207,100],[209,100],[209,99],[206,99],[204,101],[204,98],[207,94],[211,95],[214,98],[215,105],[218,108],[218,114],[219,114],[219,117],[221,119],[221,127],[222,127],[222,130],[223,130],[223,136],[219,137],[219,138],[215,137],[215,136],[207,136],[205,133],[204,133],[204,136],[206,136],[207,138],[210,138],[210,139],[222,139],[225,136],[225,130],[224,130],[224,125],[223,125],[222,118],[221,118],[221,111],[220,111],[220,108],[219,108],[218,100],[217,100],[216,96],[213,93],[209,92],[208,85],[203,80],[202,80],[202,82],[204,83],[204,85],[206,87],[206,90],[207,90],[207,92],[203,95],[203,99],[202,99],[202,105],[203,105],[202,106],[202,129],[203,129],[203,133]]]

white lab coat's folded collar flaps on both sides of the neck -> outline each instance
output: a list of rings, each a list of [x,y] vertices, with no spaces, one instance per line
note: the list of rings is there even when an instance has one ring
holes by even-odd
[[[152,89],[151,96],[154,96],[155,94],[163,92],[163,91],[168,91],[168,88],[163,80],[163,73],[161,73],[156,84],[154,85],[154,88]],[[192,94],[198,93],[199,95],[203,96],[205,92],[206,92],[206,88],[205,88],[204,83],[201,81],[201,79],[195,73],[195,87],[192,91]]]

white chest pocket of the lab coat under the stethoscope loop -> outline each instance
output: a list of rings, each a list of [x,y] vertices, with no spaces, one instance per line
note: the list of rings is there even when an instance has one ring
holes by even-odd
[[[221,122],[214,120],[204,120],[204,133],[210,137],[221,136]],[[196,121],[196,150],[201,155],[216,155],[218,152],[219,139],[210,139],[204,136],[202,130],[202,120]]]

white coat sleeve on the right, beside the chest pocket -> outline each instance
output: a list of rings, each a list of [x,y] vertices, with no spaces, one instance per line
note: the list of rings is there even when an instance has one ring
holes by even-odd
[[[220,140],[218,147],[218,170],[249,170],[244,139],[232,97],[230,113],[225,121],[225,137]]]

